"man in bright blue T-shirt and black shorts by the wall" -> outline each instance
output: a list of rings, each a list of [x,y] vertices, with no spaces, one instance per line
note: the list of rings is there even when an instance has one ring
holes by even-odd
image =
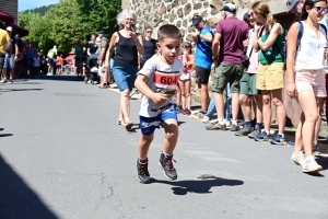
[[[201,111],[199,113],[206,114],[210,103],[208,83],[212,66],[212,41],[213,32],[206,26],[203,19],[200,15],[192,18],[192,25],[199,33],[194,33],[192,38],[196,44],[195,51],[195,71],[196,82],[198,84],[201,102]]]

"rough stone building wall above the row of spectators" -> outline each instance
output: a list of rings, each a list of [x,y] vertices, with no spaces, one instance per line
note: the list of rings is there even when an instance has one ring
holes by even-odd
[[[191,26],[191,18],[201,15],[212,28],[221,19],[220,10],[227,2],[237,7],[237,16],[243,18],[248,11],[251,0],[122,0],[122,8],[130,8],[137,12],[137,27],[143,32],[145,26],[154,28],[153,37],[156,38],[156,28],[163,24],[175,24],[181,30],[184,38],[190,41],[190,34],[196,30]],[[286,0],[267,0],[273,14],[286,10]]]

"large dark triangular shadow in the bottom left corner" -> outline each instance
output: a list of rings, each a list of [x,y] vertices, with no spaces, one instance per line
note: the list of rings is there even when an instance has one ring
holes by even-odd
[[[0,218],[58,218],[0,155]]]

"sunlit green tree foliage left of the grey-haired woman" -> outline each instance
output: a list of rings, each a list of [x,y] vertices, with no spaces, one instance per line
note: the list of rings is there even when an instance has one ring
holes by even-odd
[[[104,30],[108,36],[117,31],[116,15],[121,10],[120,0],[61,0],[43,15],[37,10],[19,14],[19,25],[27,28],[26,39],[37,42],[47,51],[57,45],[69,53],[77,39]]]

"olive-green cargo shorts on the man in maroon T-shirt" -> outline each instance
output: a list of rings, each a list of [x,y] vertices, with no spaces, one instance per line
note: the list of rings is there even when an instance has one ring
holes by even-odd
[[[244,67],[237,64],[221,64],[215,68],[213,76],[212,91],[223,93],[227,82],[230,82],[231,93],[239,93],[239,82],[243,77]]]

